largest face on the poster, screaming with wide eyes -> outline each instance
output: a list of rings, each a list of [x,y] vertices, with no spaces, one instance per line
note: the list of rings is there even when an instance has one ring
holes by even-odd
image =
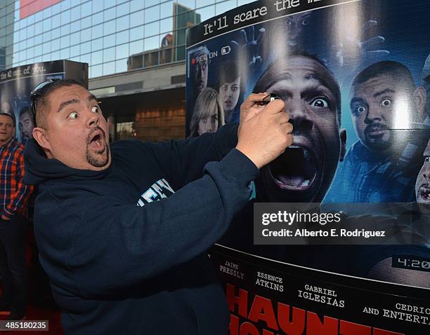
[[[294,127],[293,143],[263,167],[256,181],[257,193],[264,201],[320,202],[344,156],[346,134],[339,131],[336,97],[339,86],[330,71],[305,56],[278,64],[273,76],[263,75],[256,88],[284,100]],[[260,81],[268,84],[261,86]]]

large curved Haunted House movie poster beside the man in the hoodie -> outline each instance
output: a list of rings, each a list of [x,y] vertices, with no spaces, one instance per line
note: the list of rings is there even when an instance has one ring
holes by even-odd
[[[427,1],[255,1],[188,30],[187,137],[285,102],[294,142],[210,252],[230,334],[430,334]]]

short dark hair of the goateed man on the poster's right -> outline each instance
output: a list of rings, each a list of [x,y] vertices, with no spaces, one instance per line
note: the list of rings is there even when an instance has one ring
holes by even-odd
[[[396,78],[396,83],[400,83],[405,90],[415,90],[415,88],[417,88],[408,67],[405,67],[402,63],[393,62],[392,60],[383,60],[382,62],[374,63],[370,65],[370,67],[365,68],[353,79],[351,88],[355,88],[369,79],[386,74]]]

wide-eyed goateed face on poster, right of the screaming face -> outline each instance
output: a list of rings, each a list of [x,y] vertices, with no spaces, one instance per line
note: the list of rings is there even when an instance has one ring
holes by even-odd
[[[399,78],[382,74],[351,88],[351,114],[360,141],[383,152],[396,142],[396,128],[408,128],[415,111],[413,90]],[[401,123],[401,124],[400,124]]]

